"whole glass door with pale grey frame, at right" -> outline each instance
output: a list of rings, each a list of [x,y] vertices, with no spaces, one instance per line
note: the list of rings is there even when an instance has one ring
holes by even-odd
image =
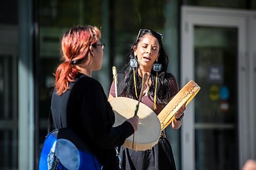
[[[185,111],[182,169],[241,169],[248,158],[247,14],[182,7],[181,84],[201,86]]]

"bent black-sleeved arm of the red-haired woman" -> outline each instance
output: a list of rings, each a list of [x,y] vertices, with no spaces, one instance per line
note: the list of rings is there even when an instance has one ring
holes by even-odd
[[[87,83],[82,94],[83,126],[90,138],[101,148],[109,149],[122,145],[124,140],[134,133],[129,122],[113,128],[114,113],[98,82]]]

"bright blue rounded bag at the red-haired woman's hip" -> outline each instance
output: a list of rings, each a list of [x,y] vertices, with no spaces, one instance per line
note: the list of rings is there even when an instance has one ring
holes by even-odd
[[[39,159],[39,170],[100,170],[96,156],[69,128],[55,129],[45,139]]]

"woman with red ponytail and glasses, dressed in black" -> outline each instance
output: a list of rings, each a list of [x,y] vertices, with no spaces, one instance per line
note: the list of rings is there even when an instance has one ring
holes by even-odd
[[[112,107],[101,84],[92,78],[92,72],[102,64],[104,43],[100,38],[101,32],[94,26],[73,27],[63,35],[49,130],[70,128],[88,145],[103,169],[119,169],[115,147],[137,130],[138,116],[112,127]]]

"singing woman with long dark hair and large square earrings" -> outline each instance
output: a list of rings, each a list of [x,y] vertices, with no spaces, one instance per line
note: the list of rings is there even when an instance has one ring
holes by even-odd
[[[123,72],[118,73],[118,96],[138,100],[142,75],[148,75],[141,102],[158,115],[179,91],[174,75],[167,72],[168,56],[163,44],[163,35],[141,29],[129,54],[126,56]],[[115,96],[114,82],[110,89],[109,100]],[[185,105],[175,113],[170,124],[173,129],[182,125]],[[158,144],[152,150],[134,151],[121,147],[120,156],[123,169],[176,169],[172,147],[165,138],[164,130]]]

